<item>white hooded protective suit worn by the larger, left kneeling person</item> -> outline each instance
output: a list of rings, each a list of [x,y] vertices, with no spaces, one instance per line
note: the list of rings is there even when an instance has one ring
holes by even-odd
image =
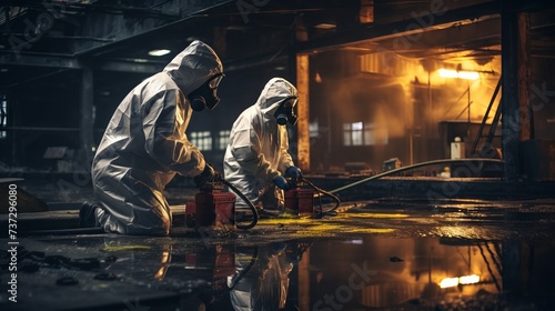
[[[185,96],[222,71],[215,52],[194,41],[120,103],[92,163],[94,194],[102,205],[97,219],[104,231],[170,233],[164,187],[175,173],[198,175],[205,165],[185,136],[192,113]]]

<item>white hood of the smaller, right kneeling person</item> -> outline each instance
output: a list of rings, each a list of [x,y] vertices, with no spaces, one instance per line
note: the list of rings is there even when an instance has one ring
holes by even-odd
[[[266,121],[275,122],[275,110],[289,97],[297,97],[296,88],[283,78],[272,78],[260,93],[255,106],[262,111]]]

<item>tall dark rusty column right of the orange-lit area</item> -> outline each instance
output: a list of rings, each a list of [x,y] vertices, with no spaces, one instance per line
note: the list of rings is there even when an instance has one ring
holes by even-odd
[[[506,180],[516,180],[518,170],[518,13],[514,0],[502,1],[502,147]]]

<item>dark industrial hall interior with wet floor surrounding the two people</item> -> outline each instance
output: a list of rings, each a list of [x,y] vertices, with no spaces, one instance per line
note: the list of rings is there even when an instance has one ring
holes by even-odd
[[[549,310],[553,3],[2,0],[0,265],[9,292],[18,259],[20,302],[3,290],[1,309]],[[316,193],[341,200],[337,217],[199,238],[185,204],[199,189],[176,175],[165,189],[175,235],[78,229],[114,110],[194,40],[225,77],[218,107],[193,113],[191,143],[222,171],[235,119],[285,78],[299,90],[289,151]],[[19,257],[8,252],[16,185]],[[310,193],[310,213],[333,204]],[[490,277],[474,281],[476,269]],[[240,290],[255,271],[275,275]],[[238,307],[238,291],[252,305]]]

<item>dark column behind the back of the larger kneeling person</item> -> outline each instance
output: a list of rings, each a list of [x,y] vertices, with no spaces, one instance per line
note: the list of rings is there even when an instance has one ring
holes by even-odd
[[[92,163],[93,144],[93,73],[89,63],[82,63],[79,147],[84,169]]]

